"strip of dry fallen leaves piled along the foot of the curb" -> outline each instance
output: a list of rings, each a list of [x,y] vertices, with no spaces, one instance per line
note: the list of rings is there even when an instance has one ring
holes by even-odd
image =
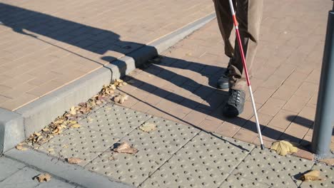
[[[94,95],[86,103],[79,103],[78,106],[71,107],[69,111],[64,113],[64,115],[56,117],[56,120],[44,127],[41,131],[34,132],[24,142],[16,145],[16,149],[27,150],[27,147],[34,147],[34,149],[38,149],[40,145],[43,145],[45,142],[51,140],[54,135],[59,135],[61,132],[69,129],[70,127],[81,127],[81,125],[78,124],[78,120],[85,117],[91,112],[91,110],[96,108],[96,106],[103,105],[104,103],[111,103],[111,101],[123,103],[127,100],[128,95],[115,93],[116,88],[123,85],[127,85],[127,83],[121,79],[116,79],[109,85],[103,85],[103,88],[97,95]]]

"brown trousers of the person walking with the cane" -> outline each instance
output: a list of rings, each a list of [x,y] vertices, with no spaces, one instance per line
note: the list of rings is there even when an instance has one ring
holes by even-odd
[[[230,5],[228,0],[213,0],[213,2],[215,4],[219,29],[225,43],[225,54],[230,58],[234,58],[229,66],[230,88],[243,90],[247,86],[247,83],[238,41],[234,42],[236,48],[233,48],[233,41],[231,41],[233,20]],[[258,46],[263,0],[233,0],[233,4],[236,9],[241,43],[243,43],[248,71],[250,71]]]

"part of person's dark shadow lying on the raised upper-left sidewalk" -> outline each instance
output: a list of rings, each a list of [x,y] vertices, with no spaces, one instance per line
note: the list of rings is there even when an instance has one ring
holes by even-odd
[[[80,52],[57,46],[57,42],[61,41],[100,54],[101,60],[106,61],[106,63],[116,60],[118,56],[121,56],[119,53],[128,54],[145,46],[142,43],[121,41],[120,35],[112,31],[4,3],[0,3],[0,26],[9,27],[16,33],[36,38],[83,58],[86,57],[81,55]],[[48,40],[49,38],[53,40]],[[110,55],[108,52],[116,53],[110,53]],[[113,56],[113,54],[118,56]],[[98,61],[93,62],[101,65],[105,64]]]

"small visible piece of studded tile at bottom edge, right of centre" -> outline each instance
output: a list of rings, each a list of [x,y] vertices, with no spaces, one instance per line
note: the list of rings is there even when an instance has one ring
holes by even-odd
[[[240,176],[231,175],[221,184],[219,188],[244,188],[244,187],[256,187],[256,188],[270,188],[268,184],[262,184],[260,182],[254,182],[245,179]]]

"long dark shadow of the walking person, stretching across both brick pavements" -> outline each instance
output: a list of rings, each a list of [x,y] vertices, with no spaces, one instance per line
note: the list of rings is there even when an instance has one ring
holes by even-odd
[[[61,46],[57,46],[57,44],[53,43],[52,41],[47,41],[46,39],[39,38],[39,36],[34,35],[34,33],[101,55],[105,55],[108,51],[115,51],[118,53],[126,54],[128,56],[128,54],[132,51],[146,46],[142,43],[121,41],[120,36],[117,33],[113,33],[112,31],[87,26],[81,23],[76,23],[74,21],[60,19],[55,16],[50,16],[47,14],[42,14],[36,11],[22,9],[17,6],[11,6],[9,4],[3,3],[0,3],[0,25],[9,27],[16,33],[31,36],[33,38],[36,38],[36,40],[49,43],[50,45],[61,48],[64,51],[69,50],[67,50],[66,48],[62,48]],[[153,48],[153,51],[156,51],[156,48]],[[81,56],[75,51],[69,52],[74,53],[81,58],[86,58],[90,61],[93,61],[85,56]],[[156,54],[158,54],[157,51]],[[188,90],[189,92],[193,93],[193,95],[197,95],[205,100],[208,105],[204,105],[203,103],[198,103],[195,100],[185,98],[182,95],[173,93],[173,91],[166,88],[157,87],[156,85],[151,85],[149,83],[143,83],[141,80],[137,80],[136,78],[128,77],[127,79],[133,80],[135,83],[133,84],[133,86],[141,90],[145,90],[148,93],[153,93],[154,95],[165,98],[166,100],[170,100],[173,103],[178,103],[187,108],[197,110],[201,113],[205,113],[206,115],[220,118],[221,120],[224,120],[226,122],[231,122],[234,125],[238,125],[239,127],[243,127],[253,132],[256,132],[255,126],[244,126],[246,122],[248,122],[248,120],[241,117],[229,119],[223,117],[223,115],[221,114],[220,109],[226,103],[225,100],[227,100],[228,98],[228,92],[224,90],[217,90],[215,87],[216,80],[218,80],[219,76],[224,71],[223,68],[218,66],[205,65],[203,63],[189,62],[176,58],[165,58],[165,63],[152,63],[148,66],[148,68],[144,68],[143,71],[146,71],[147,73],[152,73],[159,78],[163,78],[164,80],[167,80],[174,85],[178,85],[179,87]],[[106,55],[101,57],[101,59],[103,61],[106,61],[107,63],[116,60],[116,57]],[[93,62],[101,64],[97,61]],[[101,65],[104,66],[103,63]],[[186,76],[182,75],[182,73],[178,74],[174,73],[173,71],[168,71],[167,68],[171,67],[201,73],[201,75],[208,78],[208,85],[198,83],[196,81],[196,78],[187,78]],[[121,75],[124,75],[126,70],[123,69],[121,71],[123,71]],[[143,87],[143,85],[145,85],[145,87]],[[131,93],[128,93],[128,95],[131,95]],[[136,95],[131,96],[133,96],[133,98],[136,98]],[[148,103],[146,104],[149,105]],[[156,106],[153,105],[151,105],[151,107],[156,108]],[[156,108],[156,110],[160,109]],[[168,112],[162,112],[171,115]],[[175,117],[181,122],[185,122],[174,115],[171,116]],[[188,122],[185,123],[189,124]],[[196,125],[193,126],[197,127]],[[265,126],[262,125],[262,127]],[[201,127],[198,128],[201,129]],[[276,137],[278,137],[277,135],[283,134],[283,132],[273,130],[270,127],[265,128],[270,130],[270,134],[264,134],[264,136],[266,137],[275,139]],[[210,134],[212,133],[210,132]],[[298,140],[298,142],[300,141],[298,137],[293,137],[291,135],[287,136],[290,137],[292,140]]]

